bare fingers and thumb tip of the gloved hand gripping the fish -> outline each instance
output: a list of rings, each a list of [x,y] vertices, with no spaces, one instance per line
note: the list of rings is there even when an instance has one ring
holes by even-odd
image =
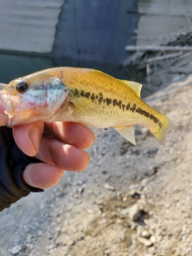
[[[0,126],[7,121],[0,103]],[[13,127],[13,136],[20,150],[44,162],[28,164],[22,177],[26,184],[42,189],[57,184],[63,169],[75,172],[86,169],[90,156],[83,149],[95,141],[93,131],[80,123],[42,120]]]

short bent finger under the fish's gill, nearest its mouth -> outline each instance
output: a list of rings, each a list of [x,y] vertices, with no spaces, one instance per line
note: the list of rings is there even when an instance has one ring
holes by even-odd
[[[17,146],[26,155],[33,157],[39,151],[39,143],[44,131],[44,122],[35,121],[13,127],[13,136]]]

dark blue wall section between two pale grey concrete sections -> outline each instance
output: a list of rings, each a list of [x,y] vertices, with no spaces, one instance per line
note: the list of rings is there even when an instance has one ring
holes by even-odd
[[[137,0],[66,0],[52,56],[120,63],[135,44]]]

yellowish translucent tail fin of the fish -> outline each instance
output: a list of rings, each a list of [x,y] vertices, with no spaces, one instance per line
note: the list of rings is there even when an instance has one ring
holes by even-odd
[[[150,131],[152,132],[152,134],[154,135],[154,137],[158,140],[158,142],[161,145],[165,144],[165,134],[172,129],[172,122],[170,121],[170,119],[159,113],[161,115],[161,118],[158,122],[158,124],[153,128],[150,127]]]

